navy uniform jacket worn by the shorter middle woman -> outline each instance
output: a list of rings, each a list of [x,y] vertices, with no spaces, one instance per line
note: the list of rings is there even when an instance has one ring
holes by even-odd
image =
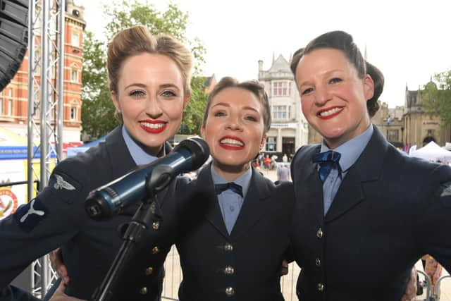
[[[280,301],[280,266],[289,247],[294,195],[291,183],[276,186],[252,171],[249,190],[228,234],[211,178],[210,164],[196,180],[178,185],[175,202],[164,200],[162,228],[180,254],[180,301]],[[172,240],[171,240],[172,239]]]

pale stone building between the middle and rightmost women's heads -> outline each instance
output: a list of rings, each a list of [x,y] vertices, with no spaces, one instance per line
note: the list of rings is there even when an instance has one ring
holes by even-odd
[[[263,70],[263,61],[259,61],[258,78],[268,93],[272,117],[264,152],[276,154],[279,159],[283,154],[290,157],[308,143],[309,133],[290,65],[282,55],[273,59],[268,70]]]

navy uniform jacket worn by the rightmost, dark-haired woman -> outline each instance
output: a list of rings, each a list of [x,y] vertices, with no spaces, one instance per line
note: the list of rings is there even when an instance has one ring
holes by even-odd
[[[299,300],[398,301],[424,254],[451,271],[449,166],[405,156],[374,127],[323,216],[319,151],[302,147],[292,162]]]

